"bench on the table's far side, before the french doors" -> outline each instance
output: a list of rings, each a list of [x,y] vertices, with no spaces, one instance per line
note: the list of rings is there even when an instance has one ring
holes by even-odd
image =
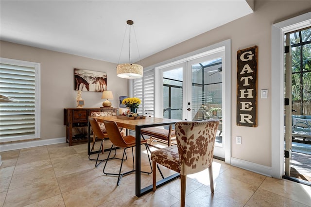
[[[172,125],[169,126],[169,129],[157,127],[143,128],[140,130],[140,134],[143,139],[145,139],[144,135],[150,137],[150,145],[152,145],[151,143],[155,139],[161,142],[165,142],[168,146],[171,146],[172,138],[175,138],[175,130],[172,129]]]

